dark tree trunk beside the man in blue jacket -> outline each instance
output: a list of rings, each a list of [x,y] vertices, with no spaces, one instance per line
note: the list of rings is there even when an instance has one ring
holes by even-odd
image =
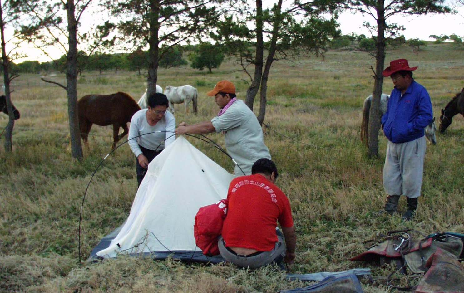
[[[375,55],[374,90],[372,92],[372,104],[369,112],[369,136],[367,156],[377,157],[379,152],[379,128],[380,128],[380,96],[382,94],[382,71],[385,63],[385,10],[384,0],[377,0],[377,40]]]

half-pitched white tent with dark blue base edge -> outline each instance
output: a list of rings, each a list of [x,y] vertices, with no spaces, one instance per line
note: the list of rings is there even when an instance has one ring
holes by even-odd
[[[193,223],[200,207],[226,197],[233,178],[183,136],[178,137],[148,165],[119,232],[105,236],[91,257],[174,254],[192,261],[222,261],[202,255],[195,244]]]

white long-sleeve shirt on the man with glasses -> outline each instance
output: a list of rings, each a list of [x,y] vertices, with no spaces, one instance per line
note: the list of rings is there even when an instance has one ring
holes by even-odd
[[[168,147],[168,145],[173,143],[175,140],[174,115],[172,115],[171,112],[166,111],[166,114],[160,121],[158,121],[154,126],[150,126],[146,117],[147,111],[148,109],[142,109],[135,112],[135,114],[132,116],[132,119],[130,120],[128,140],[129,147],[135,154],[135,157],[138,157],[142,153],[139,145],[148,148],[149,150],[161,151],[165,148],[165,146]],[[167,132],[151,133],[155,131]],[[145,135],[139,136],[141,134]]]

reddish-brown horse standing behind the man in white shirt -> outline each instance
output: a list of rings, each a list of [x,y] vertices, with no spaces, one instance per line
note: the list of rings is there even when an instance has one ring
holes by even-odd
[[[87,138],[90,128],[95,123],[100,126],[113,124],[113,149],[116,143],[129,132],[127,122],[140,110],[139,105],[126,93],[117,92],[111,95],[87,95],[77,101],[79,128],[84,144],[89,147]],[[119,127],[124,129],[121,135]]]

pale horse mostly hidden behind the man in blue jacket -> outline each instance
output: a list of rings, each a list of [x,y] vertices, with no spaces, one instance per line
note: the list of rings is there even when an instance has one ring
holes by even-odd
[[[390,95],[382,94],[380,96],[380,117],[387,112],[387,102],[390,98]],[[364,103],[362,104],[362,122],[361,122],[361,141],[367,146],[367,137],[369,136],[369,112],[372,104],[372,95],[368,96]],[[435,117],[433,117],[432,122],[425,127],[425,137],[435,145],[437,143],[437,138],[435,137],[435,131],[437,127],[435,126]]]

